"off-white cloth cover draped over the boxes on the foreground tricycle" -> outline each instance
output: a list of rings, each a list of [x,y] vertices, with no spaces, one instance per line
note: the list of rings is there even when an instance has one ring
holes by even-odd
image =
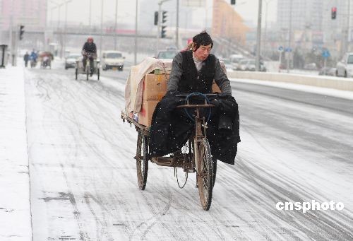
[[[125,112],[138,113],[142,105],[143,77],[145,74],[159,72],[169,74],[172,69],[172,59],[146,58],[140,64],[131,66],[125,86]]]

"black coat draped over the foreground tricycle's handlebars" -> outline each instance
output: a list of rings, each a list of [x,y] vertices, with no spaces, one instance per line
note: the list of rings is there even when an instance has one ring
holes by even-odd
[[[237,143],[240,142],[237,102],[227,95],[215,98],[211,103],[216,106],[211,111],[206,129],[211,154],[213,158],[224,163],[234,164]],[[150,129],[150,156],[163,156],[178,151],[189,139],[195,124],[187,117],[184,109],[175,109],[177,105],[183,104],[184,100],[176,97],[174,93],[167,93],[157,104]],[[222,129],[224,120],[230,121],[232,130]]]

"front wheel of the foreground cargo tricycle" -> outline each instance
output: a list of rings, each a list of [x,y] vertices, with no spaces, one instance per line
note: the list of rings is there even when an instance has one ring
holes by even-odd
[[[198,143],[197,165],[198,193],[200,194],[201,206],[207,211],[211,206],[213,191],[213,162],[207,139],[202,139]]]

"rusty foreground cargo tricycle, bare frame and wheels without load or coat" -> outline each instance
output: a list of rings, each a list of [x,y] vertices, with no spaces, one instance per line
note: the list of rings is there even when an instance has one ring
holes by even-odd
[[[210,119],[211,108],[214,107],[214,105],[210,104],[208,98],[215,95],[202,93],[177,95],[177,97],[185,99],[184,105],[179,105],[177,108],[184,109],[195,125],[191,136],[181,150],[176,153],[170,153],[169,156],[150,157],[148,150],[150,127],[138,123],[133,116],[121,112],[121,119],[124,122],[133,124],[138,132],[136,156],[134,158],[136,159],[138,187],[141,190],[146,187],[149,161],[161,166],[174,167],[174,173],[177,172],[179,167],[184,170],[186,181],[189,173],[196,172],[196,187],[198,187],[201,206],[206,211],[210,208],[217,163],[212,160],[206,129]],[[198,100],[201,97],[204,102],[198,105],[191,104],[191,99],[194,97],[198,98]],[[181,186],[179,185],[179,187]]]

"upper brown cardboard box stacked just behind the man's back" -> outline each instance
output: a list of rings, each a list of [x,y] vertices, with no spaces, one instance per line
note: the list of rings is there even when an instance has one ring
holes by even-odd
[[[167,93],[169,74],[146,74],[143,80],[143,100],[161,100]]]

